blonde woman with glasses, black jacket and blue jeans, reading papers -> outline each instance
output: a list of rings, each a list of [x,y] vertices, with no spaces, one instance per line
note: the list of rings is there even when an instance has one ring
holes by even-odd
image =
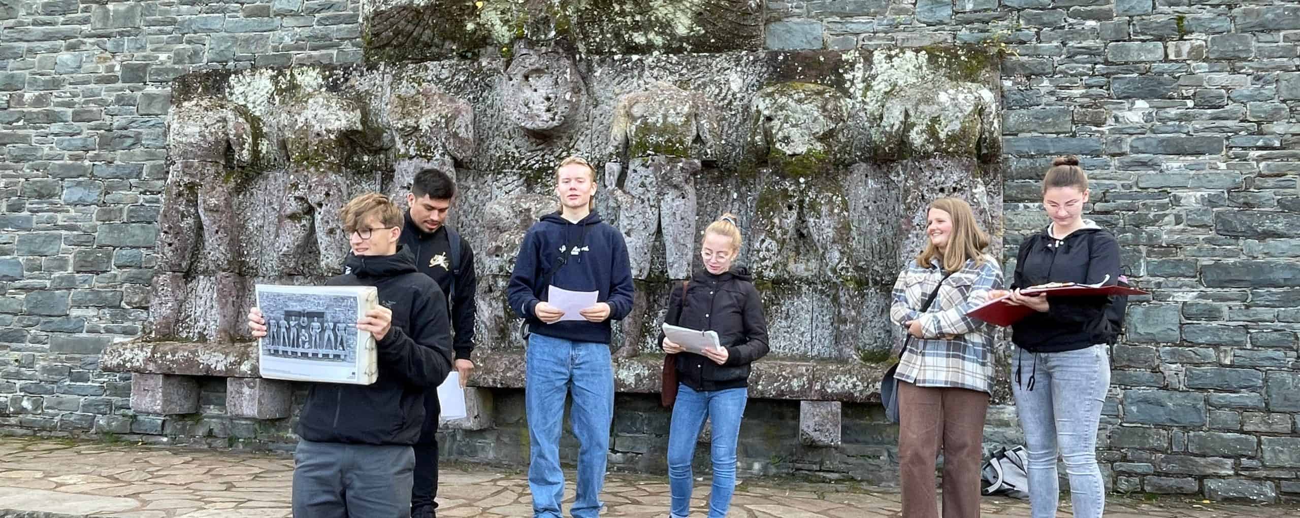
[[[749,399],[749,365],[768,351],[767,321],[758,290],[748,270],[732,269],[740,244],[736,217],[723,214],[705,228],[699,251],[705,270],[676,286],[668,296],[667,323],[715,331],[720,345],[696,354],[667,336],[660,338],[663,351],[676,356],[680,380],[668,432],[673,518],[685,518],[690,512],[690,461],[705,418],[712,421],[714,483],[708,517],[727,515],[736,487],[736,441]]]

